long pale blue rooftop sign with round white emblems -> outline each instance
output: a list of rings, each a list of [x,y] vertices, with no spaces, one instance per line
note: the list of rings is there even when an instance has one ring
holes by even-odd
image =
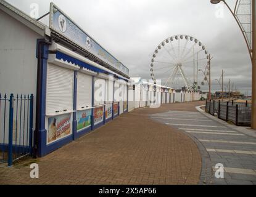
[[[67,15],[64,14],[56,5],[51,3],[50,10],[50,28],[56,31],[78,46],[95,55],[100,60],[109,64],[123,74],[129,76],[129,69],[119,62],[107,50],[97,44],[93,38],[88,36],[78,25],[76,25]]]

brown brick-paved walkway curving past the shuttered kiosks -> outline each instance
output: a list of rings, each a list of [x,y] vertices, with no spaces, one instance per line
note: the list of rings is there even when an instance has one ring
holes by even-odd
[[[201,158],[186,134],[149,118],[169,110],[196,111],[204,102],[165,104],[126,113],[57,151],[0,167],[0,184],[197,184]]]

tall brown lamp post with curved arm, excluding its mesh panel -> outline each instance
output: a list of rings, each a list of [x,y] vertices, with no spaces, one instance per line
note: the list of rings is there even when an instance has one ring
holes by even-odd
[[[244,33],[244,30],[242,28],[241,23],[236,17],[235,12],[231,10],[231,8],[228,6],[225,0],[210,0],[212,4],[218,4],[220,2],[224,2],[225,5],[228,7],[229,11],[233,15],[234,19],[236,20],[240,30],[242,31],[242,34],[244,36],[244,39],[246,40],[247,48],[249,50],[250,58],[252,61],[252,119],[251,119],[251,127],[252,129],[256,129],[256,52],[255,52],[255,44],[256,44],[256,15],[255,15],[255,6],[256,6],[256,0],[251,0],[251,6],[252,6],[252,47],[250,48],[249,42],[246,39],[246,34]],[[237,2],[236,2],[237,6]]]

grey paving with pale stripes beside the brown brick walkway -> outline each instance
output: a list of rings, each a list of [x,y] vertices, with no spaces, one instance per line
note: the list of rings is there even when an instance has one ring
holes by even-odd
[[[196,111],[170,110],[152,119],[186,132],[202,156],[200,184],[256,184],[256,139]],[[224,178],[217,179],[217,164]]]

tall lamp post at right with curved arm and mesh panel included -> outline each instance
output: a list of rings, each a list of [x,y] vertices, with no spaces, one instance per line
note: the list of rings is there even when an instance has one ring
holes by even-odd
[[[250,58],[252,61],[252,129],[256,129],[256,16],[255,16],[255,7],[256,0],[249,0],[248,3],[244,1],[236,0],[236,6],[234,11],[228,6],[225,0],[210,0],[212,4],[218,4],[224,2],[228,7],[229,11],[236,20],[244,39],[246,40],[247,48],[249,50]],[[247,6],[247,10],[244,7]],[[241,8],[241,9],[240,9]],[[246,13],[247,12],[247,13]],[[245,20],[246,18],[246,20]],[[248,25],[250,25],[248,28]],[[250,30],[248,30],[250,29]]]

